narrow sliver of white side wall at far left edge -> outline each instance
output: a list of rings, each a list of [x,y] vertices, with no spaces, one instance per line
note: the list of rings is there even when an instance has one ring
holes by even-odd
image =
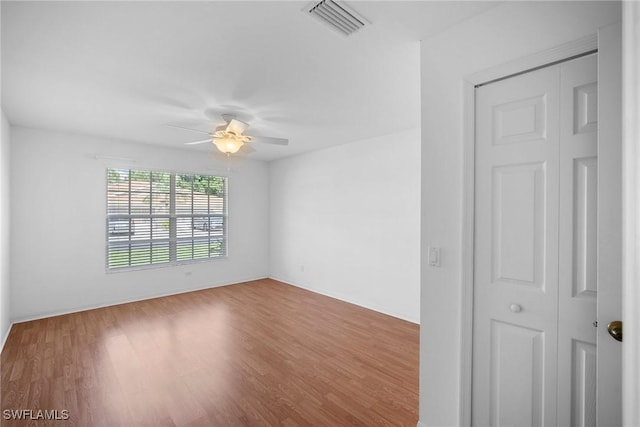
[[[11,140],[10,127],[2,112],[0,123],[0,350],[11,326],[11,281],[10,281],[10,173]]]

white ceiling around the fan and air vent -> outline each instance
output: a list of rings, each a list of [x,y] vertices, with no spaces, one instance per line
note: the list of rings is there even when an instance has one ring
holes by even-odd
[[[344,37],[309,2],[2,1],[2,108],[14,125],[184,146],[232,112],[273,160],[420,125],[419,40],[495,2],[352,1]]]

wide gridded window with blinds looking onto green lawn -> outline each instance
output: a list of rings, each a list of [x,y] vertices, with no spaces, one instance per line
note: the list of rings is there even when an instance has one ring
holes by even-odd
[[[107,169],[107,268],[226,255],[227,180]]]

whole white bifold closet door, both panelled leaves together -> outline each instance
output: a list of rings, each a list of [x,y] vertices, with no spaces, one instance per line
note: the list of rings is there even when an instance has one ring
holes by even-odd
[[[591,55],[476,91],[474,426],[595,426],[608,399],[597,72]]]

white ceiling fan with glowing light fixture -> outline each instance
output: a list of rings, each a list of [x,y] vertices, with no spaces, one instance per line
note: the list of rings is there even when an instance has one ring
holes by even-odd
[[[284,138],[271,138],[266,136],[257,136],[257,135],[245,135],[244,131],[249,127],[248,123],[241,122],[236,119],[236,116],[233,114],[223,114],[222,118],[225,123],[217,126],[214,131],[204,132],[199,129],[191,129],[178,125],[168,125],[170,127],[178,128],[178,129],[186,129],[194,132],[206,133],[209,135],[207,139],[186,142],[185,145],[195,145],[195,144],[204,144],[205,142],[213,143],[218,150],[230,156],[231,154],[235,154],[242,147],[245,147],[243,151],[252,152],[255,151],[253,148],[249,147],[248,143],[251,142],[263,142],[267,144],[276,144],[276,145],[288,145],[289,140]]]

